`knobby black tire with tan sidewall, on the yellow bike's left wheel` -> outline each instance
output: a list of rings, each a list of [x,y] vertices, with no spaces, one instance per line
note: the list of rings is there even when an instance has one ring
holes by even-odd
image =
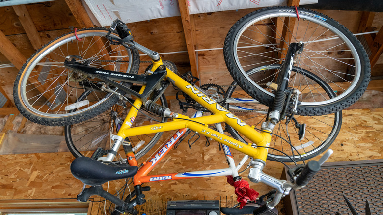
[[[101,27],[95,27],[95,28],[84,28],[84,29],[81,29],[81,30],[78,30],[77,33],[82,33],[83,31],[105,31],[105,34],[108,32],[109,29],[107,28],[101,28]],[[69,33],[66,33],[66,34],[63,34],[59,37],[56,37],[54,40],[48,42],[47,44],[45,44],[43,47],[41,47],[39,50],[37,50],[34,54],[32,54],[26,63],[24,63],[23,67],[21,68],[21,70],[19,71],[17,77],[16,77],[16,80],[15,80],[15,83],[14,83],[14,88],[13,88],[13,95],[14,95],[14,102],[15,102],[15,105],[17,107],[17,109],[20,111],[20,113],[25,116],[29,121],[31,122],[34,122],[34,123],[38,123],[38,124],[41,124],[41,125],[47,125],[47,126],[65,126],[65,125],[71,125],[71,124],[75,124],[75,123],[79,123],[79,122],[82,122],[82,121],[85,121],[85,120],[88,120],[94,116],[97,116],[98,114],[104,112],[105,110],[109,109],[110,107],[112,107],[114,104],[116,104],[119,100],[119,97],[117,95],[111,95],[110,93],[107,94],[107,96],[109,96],[109,98],[107,100],[105,100],[103,103],[87,110],[87,111],[84,111],[84,112],[81,112],[79,114],[76,114],[76,115],[72,115],[72,116],[67,116],[67,117],[52,117],[52,118],[48,118],[48,117],[44,117],[44,116],[41,116],[41,115],[38,115],[37,113],[33,113],[32,110],[28,109],[24,103],[22,102],[22,99],[20,97],[20,87],[19,86],[19,83],[21,81],[21,76],[23,75],[23,73],[25,72],[25,69],[27,67],[27,65],[29,64],[29,62],[34,58],[34,57],[37,57],[40,52],[42,52],[46,47],[49,47],[49,46],[53,46],[54,44],[60,42],[60,39],[67,36],[67,35],[70,35],[70,34],[74,34],[74,31],[73,32],[69,32]],[[136,48],[133,48],[131,49],[132,51],[132,58],[133,58],[133,63],[132,63],[132,67],[131,67],[131,73],[132,74],[137,74],[138,73],[138,69],[139,69],[139,53],[138,53],[138,50]],[[130,87],[131,86],[131,83],[124,83],[124,85]],[[107,97],[106,96],[106,97]]]

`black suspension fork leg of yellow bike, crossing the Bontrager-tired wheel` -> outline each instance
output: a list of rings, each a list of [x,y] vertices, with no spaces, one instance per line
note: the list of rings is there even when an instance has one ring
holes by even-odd
[[[284,108],[286,96],[287,96],[287,88],[289,85],[291,69],[294,63],[294,57],[297,53],[301,53],[301,49],[303,48],[303,43],[290,43],[289,49],[287,50],[285,62],[282,65],[281,72],[278,75],[276,83],[278,84],[278,88],[275,93],[274,102],[271,108],[271,112],[269,113],[269,121],[276,125],[280,121],[281,112]]]

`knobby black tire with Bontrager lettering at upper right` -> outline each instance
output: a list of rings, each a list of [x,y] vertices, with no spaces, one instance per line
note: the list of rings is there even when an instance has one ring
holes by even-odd
[[[229,70],[233,79],[242,87],[242,89],[246,91],[246,93],[248,93],[253,98],[257,99],[258,101],[260,101],[261,103],[267,106],[271,106],[273,104],[274,97],[260,91],[258,88],[254,87],[249,81],[246,80],[243,73],[240,71],[240,69],[238,68],[238,65],[235,62],[235,59],[234,59],[235,51],[233,50],[233,43],[234,43],[234,38],[236,37],[236,34],[238,33],[238,30],[242,26],[251,22],[251,20],[255,19],[256,17],[259,17],[267,13],[278,13],[278,11],[281,9],[295,11],[294,7],[279,6],[279,7],[263,8],[263,9],[251,12],[245,15],[244,17],[242,17],[240,20],[238,20],[230,28],[224,42],[224,59],[226,62],[227,69]],[[367,85],[370,81],[371,69],[370,69],[369,59],[366,54],[366,51],[364,50],[361,43],[346,27],[334,21],[333,19],[329,18],[328,16],[319,12],[315,12],[315,11],[303,9],[303,8],[297,8],[297,10],[306,12],[306,13],[312,13],[319,17],[326,17],[327,19],[326,22],[329,25],[331,25],[332,27],[335,27],[337,30],[340,30],[344,35],[346,35],[347,39],[351,41],[351,43],[356,48],[356,52],[359,55],[360,62],[361,62],[361,74],[360,74],[361,77],[357,81],[356,87],[354,87],[354,89],[350,93],[348,93],[345,97],[341,98],[340,100],[331,102],[329,104],[324,104],[320,106],[298,105],[297,114],[308,115],[308,116],[326,115],[326,114],[334,113],[351,106],[362,96],[364,91],[367,89]]]

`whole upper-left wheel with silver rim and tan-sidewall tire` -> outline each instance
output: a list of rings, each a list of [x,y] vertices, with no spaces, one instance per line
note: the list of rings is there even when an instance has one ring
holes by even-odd
[[[64,67],[68,57],[100,69],[137,74],[138,50],[109,44],[107,33],[106,28],[78,30],[56,38],[33,54],[14,84],[14,101],[19,111],[32,122],[64,126],[92,118],[113,106],[119,98],[101,90],[103,81]],[[89,90],[86,99],[76,102]]]

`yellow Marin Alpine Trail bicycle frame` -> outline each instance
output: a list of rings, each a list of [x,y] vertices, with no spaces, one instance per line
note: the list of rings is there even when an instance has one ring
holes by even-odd
[[[152,71],[155,71],[162,64],[163,62],[161,59],[159,61],[153,61]],[[257,132],[254,129],[254,127],[250,127],[241,119],[239,119],[237,116],[232,114],[230,111],[226,110],[225,108],[222,108],[219,104],[211,100],[208,96],[206,96],[204,93],[196,89],[187,81],[183,80],[174,72],[172,72],[168,68],[166,68],[166,71],[167,71],[167,75],[166,75],[167,80],[169,80],[172,84],[174,84],[180,90],[185,92],[187,95],[192,97],[192,99],[194,99],[196,102],[198,102],[199,104],[201,104],[202,106],[210,110],[213,113],[213,115],[190,119],[188,116],[178,114],[178,117],[173,118],[173,121],[170,121],[170,122],[157,123],[152,125],[131,128],[133,123],[132,119],[135,119],[138,113],[138,109],[142,106],[142,101],[139,98],[137,98],[135,102],[133,103],[134,107],[132,107],[130,111],[128,112],[128,115],[126,116],[123,125],[121,126],[119,132],[117,133],[118,136],[125,139],[126,137],[129,137],[129,136],[152,134],[152,133],[188,128],[194,132],[198,132],[199,134],[205,135],[208,138],[212,138],[218,141],[219,143],[227,145],[230,148],[233,148],[242,153],[245,153],[246,155],[254,159],[261,159],[263,161],[266,161],[268,150],[267,148],[264,148],[264,147],[268,147],[270,144],[270,141],[271,141],[270,132],[261,132],[261,133]],[[145,86],[141,88],[139,93],[141,94],[144,89],[145,89]],[[236,131],[245,135],[251,142],[246,144],[230,136],[221,134],[218,131],[208,128],[209,124],[222,123],[222,122],[227,123],[228,125],[233,127]],[[252,146],[253,143],[261,147]],[[129,161],[129,163],[131,165],[132,164],[137,165],[137,161]]]

